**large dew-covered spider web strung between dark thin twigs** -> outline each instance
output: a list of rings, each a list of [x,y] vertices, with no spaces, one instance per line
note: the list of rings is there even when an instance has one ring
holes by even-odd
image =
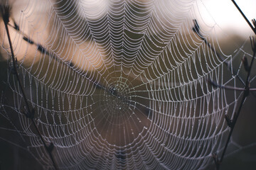
[[[214,89],[207,80],[241,86],[240,59],[252,55],[246,40],[240,46],[230,42],[234,49],[225,54],[218,37],[222,30],[215,21],[206,23],[198,7],[202,4],[12,4],[10,31],[19,77],[36,111],[38,129],[55,146],[60,169],[213,165],[212,154],[222,151],[230,130],[225,114],[233,116],[241,94]],[[195,18],[210,46],[192,30]],[[11,66],[9,51],[1,22],[2,58]],[[40,137],[23,115],[18,82],[9,67],[4,74],[1,139],[27,149],[44,169],[53,169]],[[242,149],[234,140],[230,143],[231,154]]]

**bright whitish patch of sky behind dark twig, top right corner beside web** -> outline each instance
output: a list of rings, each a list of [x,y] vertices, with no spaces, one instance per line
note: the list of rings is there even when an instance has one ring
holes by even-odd
[[[202,3],[199,3],[201,4],[200,8],[202,9],[201,16],[206,18],[204,21],[211,21],[214,19],[215,23],[217,23],[223,30],[231,28],[235,32],[241,33],[241,31],[243,31],[245,36],[253,35],[250,26],[248,26],[245,19],[231,0],[199,1]],[[235,2],[240,6],[249,21],[256,18],[256,0],[236,0]],[[203,9],[203,6],[206,8]]]

